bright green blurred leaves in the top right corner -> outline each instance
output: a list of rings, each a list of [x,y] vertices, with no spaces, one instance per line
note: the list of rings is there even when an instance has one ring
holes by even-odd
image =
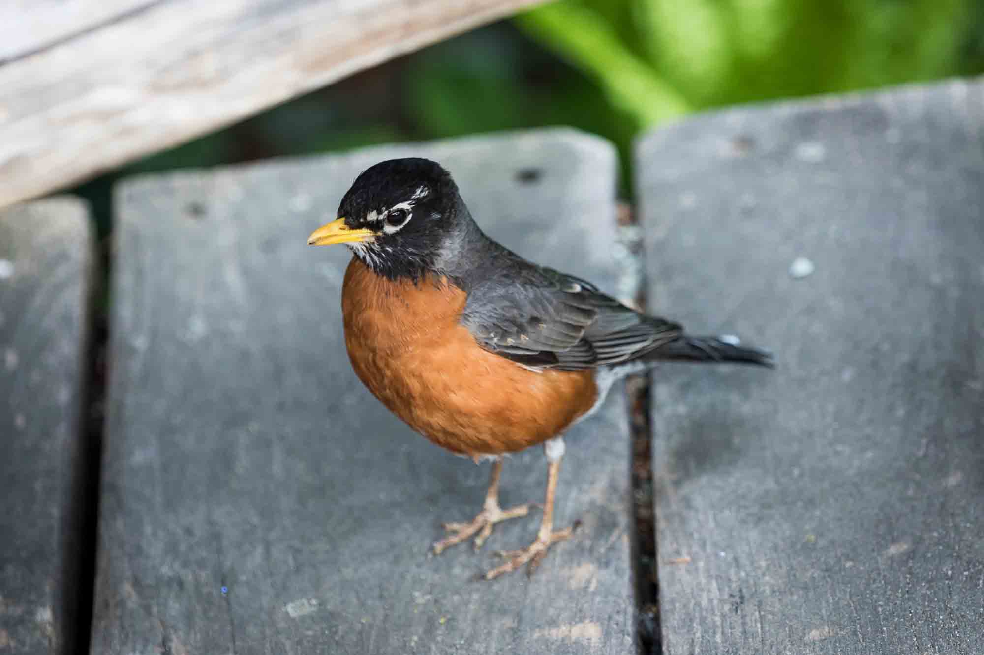
[[[980,0],[565,0],[519,17],[640,128],[979,70]]]

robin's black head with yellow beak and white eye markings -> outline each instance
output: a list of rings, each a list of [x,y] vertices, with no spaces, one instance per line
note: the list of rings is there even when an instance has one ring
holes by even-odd
[[[338,218],[315,230],[308,243],[343,243],[381,275],[416,279],[439,268],[446,242],[459,223],[470,222],[461,213],[467,209],[458,186],[439,163],[388,159],[355,178],[338,205]]]

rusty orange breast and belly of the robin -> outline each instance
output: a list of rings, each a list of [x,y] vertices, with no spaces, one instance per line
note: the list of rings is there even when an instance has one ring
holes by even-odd
[[[467,455],[556,437],[594,404],[592,371],[536,373],[483,350],[461,326],[466,294],[446,279],[391,281],[352,258],[341,313],[356,375],[403,421]]]

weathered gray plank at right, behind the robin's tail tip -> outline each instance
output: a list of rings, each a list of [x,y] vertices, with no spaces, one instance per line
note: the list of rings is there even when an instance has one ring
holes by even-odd
[[[640,144],[653,304],[778,362],[656,376],[664,652],[984,652],[982,99],[741,108]]]

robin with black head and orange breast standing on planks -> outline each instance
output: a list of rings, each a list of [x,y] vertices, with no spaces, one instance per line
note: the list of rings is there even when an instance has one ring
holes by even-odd
[[[733,336],[693,336],[642,314],[591,282],[538,266],[479,228],[451,173],[405,157],[361,172],[336,218],[308,244],[352,252],[341,287],[345,347],[356,376],[439,447],[492,461],[481,510],[445,523],[435,555],[533,504],[499,505],[503,456],[542,445],[547,484],[536,538],[503,551],[485,579],[540,564],[576,525],[555,530],[563,435],[590,416],[614,382],[659,361],[772,365]],[[563,220],[563,216],[557,216]]]

